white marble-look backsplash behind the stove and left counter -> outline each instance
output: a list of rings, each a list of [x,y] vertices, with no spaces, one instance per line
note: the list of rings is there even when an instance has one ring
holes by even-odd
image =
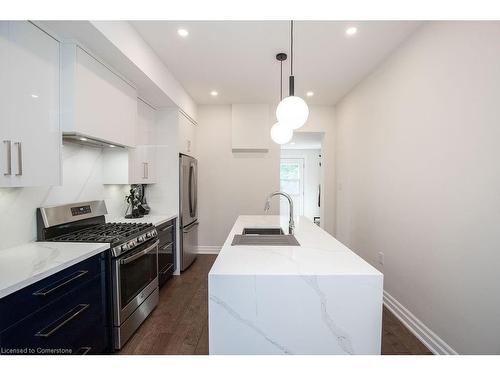
[[[0,250],[36,240],[36,208],[105,199],[111,214],[123,214],[128,185],[102,184],[102,149],[64,144],[61,186],[0,188]]]

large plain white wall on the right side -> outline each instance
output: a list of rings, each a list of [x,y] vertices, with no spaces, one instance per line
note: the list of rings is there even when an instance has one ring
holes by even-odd
[[[500,354],[499,40],[429,23],[336,107],[338,238],[459,353]]]

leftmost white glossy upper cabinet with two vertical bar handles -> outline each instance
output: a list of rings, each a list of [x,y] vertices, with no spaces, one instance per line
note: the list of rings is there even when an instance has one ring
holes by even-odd
[[[59,42],[26,21],[0,22],[0,186],[61,183]]]

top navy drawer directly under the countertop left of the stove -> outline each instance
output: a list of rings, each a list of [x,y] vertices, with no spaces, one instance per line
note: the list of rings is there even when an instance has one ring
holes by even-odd
[[[0,331],[104,272],[104,254],[95,255],[2,298]]]

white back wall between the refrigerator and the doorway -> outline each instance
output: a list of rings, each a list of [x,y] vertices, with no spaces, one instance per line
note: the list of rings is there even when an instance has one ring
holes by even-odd
[[[233,153],[230,105],[199,106],[198,124],[199,245],[220,248],[238,215],[264,214],[267,195],[279,190],[280,148]]]

